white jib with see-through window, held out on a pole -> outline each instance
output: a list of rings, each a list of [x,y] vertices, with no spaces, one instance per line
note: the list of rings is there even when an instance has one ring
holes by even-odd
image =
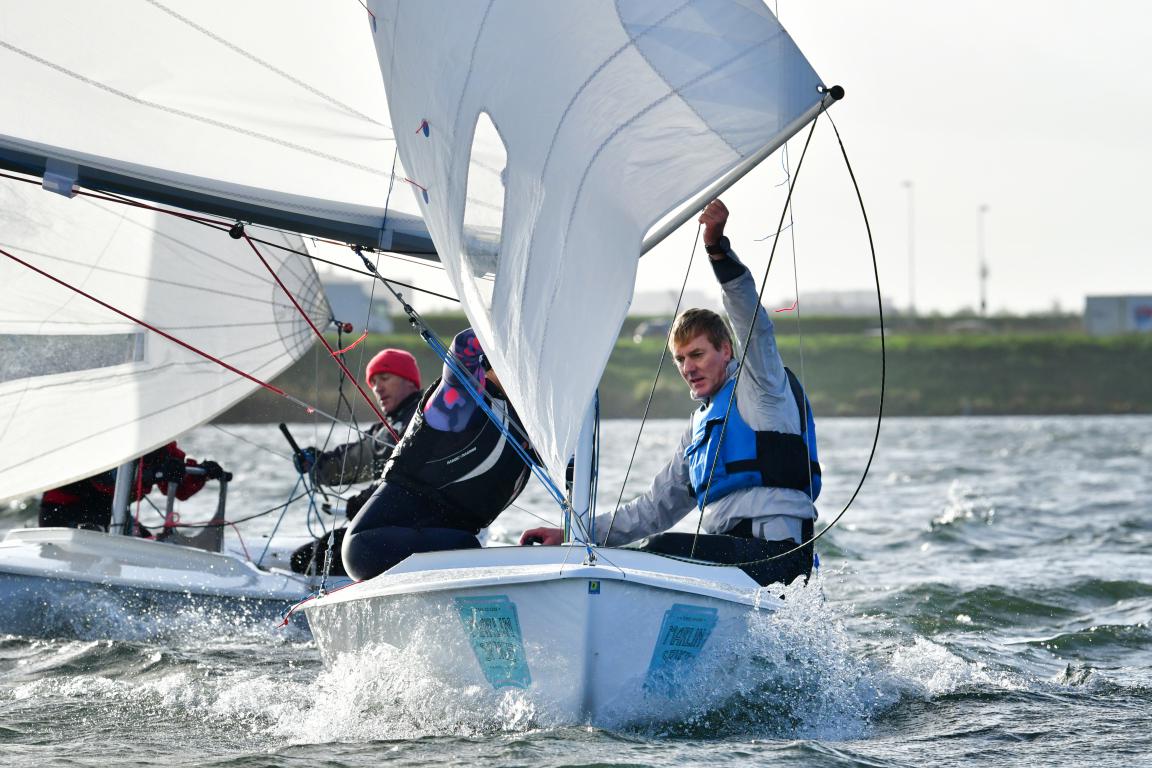
[[[820,78],[759,0],[369,5],[441,261],[562,477],[645,233],[779,140]]]

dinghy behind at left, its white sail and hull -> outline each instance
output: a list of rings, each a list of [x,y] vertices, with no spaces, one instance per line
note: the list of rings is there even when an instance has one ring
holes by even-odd
[[[263,235],[303,248],[297,236]],[[183,219],[0,180],[0,249],[35,267],[0,259],[0,499],[130,462],[258,388],[73,288],[263,379],[313,341],[247,244]],[[327,322],[311,263],[267,251],[271,269],[312,320]],[[90,614],[109,603],[128,615],[219,607],[233,617],[267,617],[302,599],[314,586],[305,577],[225,550],[228,479],[204,489],[218,487],[217,512],[196,535],[189,535],[195,527],[175,526],[158,530],[159,541],[76,529],[8,531],[0,539],[0,632],[98,633],[100,617]]]

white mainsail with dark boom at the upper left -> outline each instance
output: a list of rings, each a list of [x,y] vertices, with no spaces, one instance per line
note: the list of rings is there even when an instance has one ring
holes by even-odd
[[[426,253],[356,0],[0,6],[0,166]],[[403,178],[403,170],[397,170]]]

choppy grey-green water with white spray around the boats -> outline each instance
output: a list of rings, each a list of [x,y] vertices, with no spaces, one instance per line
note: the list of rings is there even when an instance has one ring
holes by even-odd
[[[601,504],[637,426],[606,426]],[[681,427],[649,425],[627,495]],[[873,425],[819,427],[827,522]],[[282,503],[279,433],[228,429],[181,442],[236,473],[230,517]],[[109,614],[69,638],[0,636],[0,765],[1152,765],[1150,462],[1149,417],[887,420],[821,539],[823,599],[794,591],[750,638],[737,699],[672,720],[558,727],[513,693],[438,687],[419,659],[325,670],[298,628]],[[183,514],[210,511],[195,499]],[[538,515],[552,511],[533,488],[493,539]],[[0,527],[25,519],[8,510]],[[304,520],[297,504],[281,530]],[[275,525],[241,527],[253,555]]]

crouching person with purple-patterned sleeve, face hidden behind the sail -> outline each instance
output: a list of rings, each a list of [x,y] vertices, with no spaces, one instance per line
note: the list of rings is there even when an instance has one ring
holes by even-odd
[[[511,434],[523,435],[471,328],[456,335],[452,351],[495,416]],[[414,553],[479,547],[477,535],[516,500],[529,472],[445,365],[388,458],[379,487],[348,526],[344,569],[363,580]]]

